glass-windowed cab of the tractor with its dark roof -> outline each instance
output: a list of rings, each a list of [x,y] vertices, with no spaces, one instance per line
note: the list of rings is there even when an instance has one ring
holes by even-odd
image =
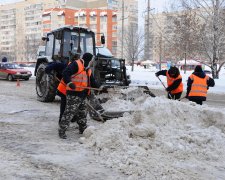
[[[46,41],[45,55],[52,61],[69,60],[76,53],[82,55],[89,52],[95,55],[95,34],[85,28],[59,28],[42,39]]]

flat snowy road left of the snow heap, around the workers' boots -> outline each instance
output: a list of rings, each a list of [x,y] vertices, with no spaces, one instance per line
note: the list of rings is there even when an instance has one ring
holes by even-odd
[[[38,102],[34,83],[34,79],[21,81],[17,87],[15,81],[0,81],[1,179],[117,177],[118,172],[114,174],[98,163],[93,152],[82,148],[76,125],[68,140],[58,138],[59,101]]]

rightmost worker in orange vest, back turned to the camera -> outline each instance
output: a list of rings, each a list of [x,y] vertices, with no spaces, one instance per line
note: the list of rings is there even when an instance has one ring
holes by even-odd
[[[196,66],[194,72],[189,76],[187,82],[186,98],[199,105],[206,101],[207,91],[209,87],[213,87],[215,81],[207,76],[201,66]]]

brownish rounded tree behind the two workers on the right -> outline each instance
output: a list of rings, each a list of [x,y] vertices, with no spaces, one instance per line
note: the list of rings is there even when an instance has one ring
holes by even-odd
[[[184,10],[174,17],[173,34],[171,35],[169,52],[176,50],[176,56],[185,59],[184,73],[186,73],[186,59],[198,56],[200,52],[200,20],[195,11]]]

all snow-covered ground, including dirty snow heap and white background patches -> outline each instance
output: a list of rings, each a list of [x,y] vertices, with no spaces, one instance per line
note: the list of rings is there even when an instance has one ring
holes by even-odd
[[[155,70],[135,67],[130,74],[132,85],[163,89]],[[210,91],[223,96],[224,80],[222,72]],[[38,102],[34,83],[0,81],[1,178],[225,179],[225,107],[152,98],[131,87],[123,93],[134,100],[111,94],[103,106],[134,113],[105,123],[88,117],[84,135],[72,124],[68,139],[61,140],[59,100]]]

